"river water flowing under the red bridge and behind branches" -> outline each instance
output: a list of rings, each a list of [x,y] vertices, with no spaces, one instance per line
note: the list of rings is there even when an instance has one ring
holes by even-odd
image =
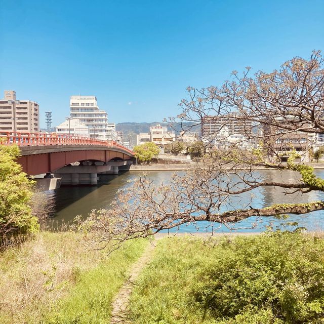
[[[178,173],[184,174],[182,171]],[[281,173],[274,170],[262,170],[259,171],[264,179],[280,182],[293,182],[298,174],[294,172]],[[323,178],[324,170],[316,170],[316,175]],[[129,180],[138,177],[140,172],[125,172],[119,175],[102,175],[99,177],[99,182],[97,187],[93,186],[80,186],[80,187],[61,187],[57,190],[47,191],[49,206],[51,209],[51,219],[48,225],[51,229],[56,230],[60,228],[63,223],[71,223],[73,218],[77,215],[83,215],[86,217],[91,210],[108,208],[111,201],[116,197],[116,192],[118,189],[124,188],[130,185]],[[168,182],[173,174],[169,171],[150,171],[147,172],[148,177],[154,179],[156,184],[161,182]],[[295,181],[294,181],[295,182]],[[307,203],[312,200],[324,199],[324,193],[322,192],[310,192],[306,194],[291,194],[284,195],[282,189],[276,187],[261,187],[253,190],[254,195],[253,207],[260,208],[266,207],[271,204],[281,204],[281,203]],[[246,204],[249,204],[251,197],[251,192],[235,197],[237,205],[245,208]],[[283,222],[298,222],[298,226],[303,226],[309,230],[324,230],[324,211],[312,212],[307,215],[292,215],[287,220],[278,221],[275,218],[266,218],[264,220],[258,220],[258,225],[253,231],[263,231],[265,226],[272,224],[274,226],[279,226],[279,223]],[[239,224],[235,224],[237,231],[249,232],[251,231],[251,226],[256,222],[255,217],[250,217]],[[209,227],[208,227],[209,225]],[[207,222],[200,222],[198,231],[211,231],[218,227],[215,224],[211,227]],[[171,230],[172,231],[175,231]],[[182,226],[179,232],[195,232],[196,227]],[[227,232],[228,228],[222,226],[217,231]]]

